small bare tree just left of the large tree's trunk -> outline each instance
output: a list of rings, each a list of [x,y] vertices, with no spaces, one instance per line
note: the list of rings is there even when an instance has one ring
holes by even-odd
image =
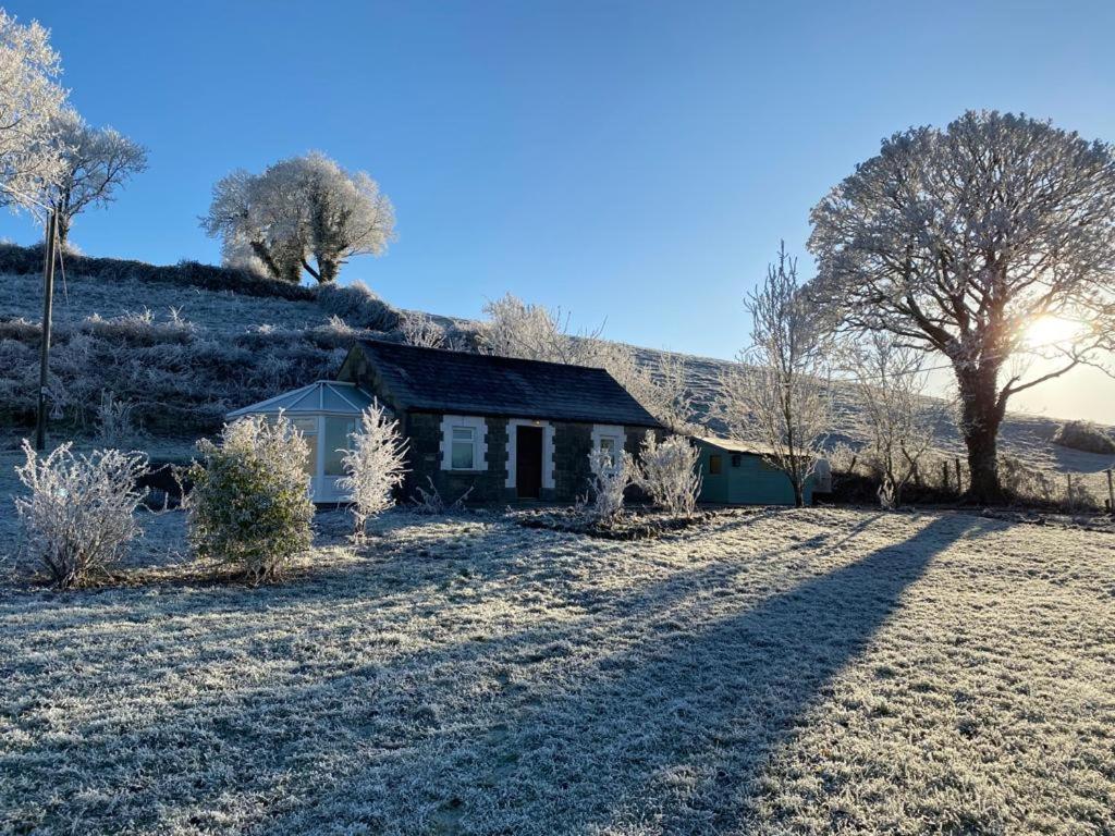
[[[879,500],[886,508],[902,503],[941,418],[924,397],[925,357],[886,331],[869,333],[843,351],[841,366],[851,375],[867,441],[859,457],[879,479]]]

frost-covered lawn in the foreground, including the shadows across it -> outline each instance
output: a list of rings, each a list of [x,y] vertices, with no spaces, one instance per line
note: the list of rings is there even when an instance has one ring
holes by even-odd
[[[1115,828],[1112,535],[319,523],[274,589],[0,589],[0,832]]]

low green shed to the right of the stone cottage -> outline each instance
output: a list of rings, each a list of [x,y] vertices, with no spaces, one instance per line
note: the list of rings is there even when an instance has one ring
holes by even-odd
[[[764,459],[768,448],[754,441],[712,436],[697,437],[700,448],[700,500],[718,505],[793,505],[789,477]],[[813,502],[813,479],[805,485],[805,502]]]

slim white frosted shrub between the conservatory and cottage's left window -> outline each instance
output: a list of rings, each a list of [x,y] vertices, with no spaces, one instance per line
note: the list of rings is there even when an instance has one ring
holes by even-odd
[[[343,450],[346,476],[337,486],[352,496],[352,539],[365,538],[368,518],[395,505],[392,492],[406,473],[407,445],[399,422],[374,401],[360,416],[360,428],[349,436],[352,448]]]

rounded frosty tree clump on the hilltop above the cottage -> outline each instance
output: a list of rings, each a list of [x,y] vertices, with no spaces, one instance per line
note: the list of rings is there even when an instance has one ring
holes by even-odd
[[[387,249],[395,210],[367,173],[312,152],[220,179],[202,227],[222,239],[226,264],[295,282],[306,271],[327,283],[350,257]]]

